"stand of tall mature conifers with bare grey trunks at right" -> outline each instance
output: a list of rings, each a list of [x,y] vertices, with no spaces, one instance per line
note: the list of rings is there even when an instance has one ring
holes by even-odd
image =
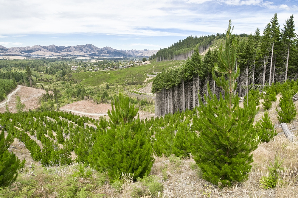
[[[261,89],[267,84],[298,78],[298,42],[294,30],[293,15],[280,30],[275,14],[265,27],[263,36],[260,36],[257,28],[254,35],[250,34],[246,39],[236,37],[236,67],[240,69],[236,91],[240,97],[245,96],[251,88]],[[208,94],[207,82],[217,97],[223,92],[211,78],[214,64],[218,61],[218,50],[209,49],[202,58],[198,52],[196,47],[181,68],[162,71],[153,80],[157,116],[198,106],[198,93],[201,97],[204,93]],[[217,72],[215,74],[219,75]]]

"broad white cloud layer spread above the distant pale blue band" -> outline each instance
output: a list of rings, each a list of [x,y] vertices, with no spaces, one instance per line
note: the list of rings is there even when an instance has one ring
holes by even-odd
[[[95,33],[183,38],[192,32],[223,33],[229,19],[239,32],[249,33],[256,27],[262,29],[279,10],[288,16],[295,15],[293,10],[297,6],[287,7],[285,3],[277,5],[271,1],[0,0],[0,35]],[[6,38],[1,41],[8,41]]]

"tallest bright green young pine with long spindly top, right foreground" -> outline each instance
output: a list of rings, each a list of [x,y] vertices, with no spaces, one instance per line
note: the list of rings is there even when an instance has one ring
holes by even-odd
[[[217,99],[208,85],[207,104],[200,100],[199,116],[194,116],[193,125],[197,134],[192,141],[195,162],[203,172],[203,178],[220,187],[246,180],[252,168],[251,152],[257,148],[258,141],[253,127],[257,109],[240,108],[239,97],[235,94],[239,68],[235,71],[237,42],[231,38],[232,27],[229,22],[226,31],[225,48],[219,49],[219,65],[215,71],[221,77],[213,79],[225,91],[225,99]],[[199,97],[200,98],[200,97]]]

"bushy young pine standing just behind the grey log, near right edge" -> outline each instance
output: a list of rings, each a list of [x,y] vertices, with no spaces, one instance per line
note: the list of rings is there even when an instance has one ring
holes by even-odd
[[[280,110],[277,110],[277,118],[280,123],[289,123],[296,118],[297,110],[295,108],[293,97],[293,91],[291,89],[285,89],[282,92],[280,98]]]

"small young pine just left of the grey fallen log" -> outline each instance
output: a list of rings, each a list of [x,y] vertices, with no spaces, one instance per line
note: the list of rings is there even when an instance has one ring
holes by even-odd
[[[257,130],[257,134],[262,142],[269,142],[275,135],[277,135],[274,129],[274,124],[270,120],[268,111],[264,112],[264,116],[261,120],[257,121],[254,125]]]

